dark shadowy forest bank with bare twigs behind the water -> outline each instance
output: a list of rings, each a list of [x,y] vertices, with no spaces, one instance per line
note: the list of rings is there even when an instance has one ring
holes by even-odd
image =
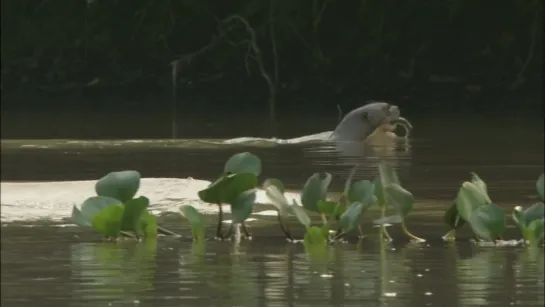
[[[6,0],[1,9],[3,110],[170,108],[173,80],[184,112],[543,104],[538,0]]]

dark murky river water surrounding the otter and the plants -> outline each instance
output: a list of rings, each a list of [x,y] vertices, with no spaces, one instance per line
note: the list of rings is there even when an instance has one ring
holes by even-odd
[[[410,144],[390,155],[417,202],[437,202],[436,212],[418,212],[417,203],[417,217],[409,222],[414,233],[430,239],[427,244],[381,245],[369,238],[332,247],[324,263],[283,241],[276,226],[254,229],[253,241],[239,247],[207,242],[203,250],[187,239],[185,222],[174,217],[160,221],[186,237],[160,237],[156,246],[103,243],[86,230],[46,222],[3,224],[2,306],[542,306],[542,250],[532,255],[519,247],[445,244],[438,214],[471,171],[508,213],[515,204],[535,202],[535,181],[544,166],[543,121],[411,121]],[[291,131],[283,137],[331,129],[324,122],[286,123]],[[224,124],[216,126],[221,128],[210,128],[206,138],[229,134]],[[240,133],[229,137],[259,135],[252,127],[233,131]],[[329,171],[332,190],[339,191],[354,162],[323,144],[58,143],[3,140],[2,181],[94,180],[119,169],[138,169],[144,177],[211,180],[230,155],[252,151],[262,159],[263,177],[299,189],[313,172]],[[359,177],[369,179],[373,161],[360,161]],[[509,224],[506,237],[517,238]],[[392,232],[401,238],[398,230]]]

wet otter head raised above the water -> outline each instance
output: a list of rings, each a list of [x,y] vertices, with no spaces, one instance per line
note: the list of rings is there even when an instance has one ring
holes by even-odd
[[[393,130],[400,120],[405,119],[400,117],[398,106],[387,102],[370,102],[346,114],[335,128],[331,139],[361,142],[377,128]]]

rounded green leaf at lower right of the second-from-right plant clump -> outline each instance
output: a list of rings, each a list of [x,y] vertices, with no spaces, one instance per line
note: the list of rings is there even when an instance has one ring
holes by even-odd
[[[505,231],[504,210],[494,204],[475,209],[468,222],[478,237],[489,241]]]

